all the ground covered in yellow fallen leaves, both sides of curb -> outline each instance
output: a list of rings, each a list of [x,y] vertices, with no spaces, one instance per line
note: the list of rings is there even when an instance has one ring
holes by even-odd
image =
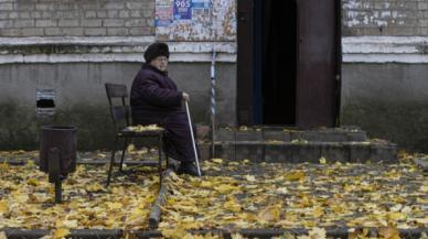
[[[129,160],[147,154],[130,150]],[[38,154],[0,152],[2,160],[29,161],[24,166],[0,163],[0,229],[147,229],[159,186],[154,167],[135,167],[106,189],[106,166],[78,165],[63,183],[64,203],[54,205],[53,185],[32,161]],[[79,159],[106,160],[108,153],[79,153]],[[383,165],[214,159],[203,169],[203,177],[173,176],[169,183],[173,194],[160,224],[165,237],[190,238],[186,229],[274,227],[312,228],[315,235],[323,233],[319,227],[377,227],[397,235],[396,229],[428,225],[428,182],[409,160]]]

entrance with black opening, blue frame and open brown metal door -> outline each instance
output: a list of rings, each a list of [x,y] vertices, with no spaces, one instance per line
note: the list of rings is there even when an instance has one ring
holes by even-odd
[[[238,124],[339,124],[340,0],[237,0]]]

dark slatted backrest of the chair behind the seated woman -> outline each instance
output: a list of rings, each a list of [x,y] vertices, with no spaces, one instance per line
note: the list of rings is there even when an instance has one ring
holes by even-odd
[[[126,85],[106,83],[106,93],[115,130],[129,126],[128,90]],[[119,100],[119,104],[115,105]]]

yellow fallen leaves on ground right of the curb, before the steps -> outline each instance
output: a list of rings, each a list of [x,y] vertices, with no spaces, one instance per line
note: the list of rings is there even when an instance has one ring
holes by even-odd
[[[428,182],[415,165],[322,163],[205,162],[211,175],[171,183],[160,228],[428,225]]]

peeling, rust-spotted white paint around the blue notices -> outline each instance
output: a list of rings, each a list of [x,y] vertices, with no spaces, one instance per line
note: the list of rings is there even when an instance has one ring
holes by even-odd
[[[171,1],[173,2],[173,1]],[[191,20],[157,25],[160,41],[236,41],[236,0],[211,0],[212,8],[192,9]],[[165,0],[156,0],[157,11]]]

